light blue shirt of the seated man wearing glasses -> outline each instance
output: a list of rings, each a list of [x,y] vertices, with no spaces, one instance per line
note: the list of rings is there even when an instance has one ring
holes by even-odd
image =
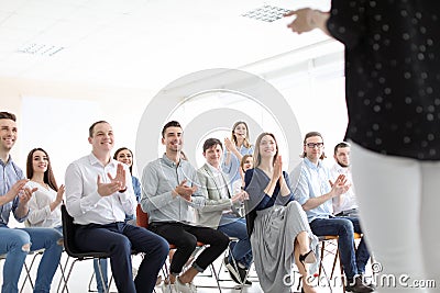
[[[331,180],[329,169],[318,161],[318,166],[312,164],[308,158],[304,158],[301,162],[292,171],[290,190],[295,200],[299,204],[305,204],[309,199],[318,198],[329,193],[331,190],[329,180]],[[315,218],[328,218],[333,214],[333,205],[331,199],[321,205],[306,211],[307,218],[311,223]]]

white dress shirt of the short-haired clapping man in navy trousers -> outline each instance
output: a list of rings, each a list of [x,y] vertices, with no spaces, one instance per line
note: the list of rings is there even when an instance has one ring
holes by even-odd
[[[125,170],[124,192],[114,192],[109,196],[101,196],[98,193],[98,174],[101,182],[109,183],[108,173],[112,177],[117,173],[117,160],[110,159],[106,166],[90,154],[72,162],[66,170],[66,207],[75,218],[76,224],[110,224],[123,222],[125,214],[133,215],[136,209],[130,170],[122,164]]]

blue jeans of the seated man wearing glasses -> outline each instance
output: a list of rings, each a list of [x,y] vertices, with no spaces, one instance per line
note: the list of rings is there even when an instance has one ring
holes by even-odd
[[[311,232],[317,236],[338,235],[339,253],[348,279],[365,272],[370,259],[364,237],[354,252],[354,233],[362,233],[358,217],[316,218],[310,223]]]

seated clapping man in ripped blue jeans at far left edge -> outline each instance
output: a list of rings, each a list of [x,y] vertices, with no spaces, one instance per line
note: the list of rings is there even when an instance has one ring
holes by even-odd
[[[19,278],[28,253],[44,248],[34,292],[48,293],[63,252],[62,234],[52,228],[8,227],[11,212],[19,222],[28,218],[29,201],[37,190],[24,187],[29,180],[9,154],[18,137],[15,120],[14,114],[0,112],[0,255],[7,255],[1,292],[19,292]]]

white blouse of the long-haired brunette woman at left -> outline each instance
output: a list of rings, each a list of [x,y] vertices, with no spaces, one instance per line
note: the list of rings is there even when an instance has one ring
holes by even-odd
[[[51,212],[50,204],[56,199],[56,191],[44,187],[40,183],[29,181],[26,187],[38,190],[32,194],[29,201],[29,216],[26,224],[31,227],[47,227],[54,228],[62,225],[62,211],[61,205],[58,205],[54,211]]]

